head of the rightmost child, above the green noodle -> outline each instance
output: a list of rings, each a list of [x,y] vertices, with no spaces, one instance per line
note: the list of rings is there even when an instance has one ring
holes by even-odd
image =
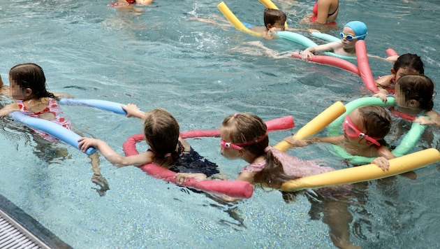
[[[402,76],[395,85],[395,103],[399,107],[431,111],[434,107],[434,83],[423,75]]]

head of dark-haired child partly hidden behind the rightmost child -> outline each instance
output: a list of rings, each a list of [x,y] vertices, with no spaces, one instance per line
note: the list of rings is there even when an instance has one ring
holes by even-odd
[[[406,74],[424,74],[425,69],[420,56],[414,54],[400,55],[391,69],[395,81]]]

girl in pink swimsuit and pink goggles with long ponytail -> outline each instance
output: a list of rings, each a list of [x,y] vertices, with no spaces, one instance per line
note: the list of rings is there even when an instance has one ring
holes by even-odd
[[[257,115],[230,115],[223,120],[220,133],[221,155],[228,159],[243,159],[249,163],[240,171],[236,180],[277,189],[291,179],[335,170],[322,166],[317,161],[298,159],[270,147],[265,122]],[[323,222],[330,227],[330,238],[339,248],[356,248],[349,239],[351,214],[344,202],[337,201],[338,197],[344,198],[349,194],[350,189],[349,185],[343,185],[314,190],[326,207],[323,211]],[[293,193],[283,193],[284,199],[291,201],[291,194]]]

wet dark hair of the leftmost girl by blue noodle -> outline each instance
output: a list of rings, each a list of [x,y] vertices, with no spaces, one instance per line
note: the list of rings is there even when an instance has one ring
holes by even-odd
[[[13,66],[9,71],[9,77],[20,87],[25,90],[32,90],[31,99],[40,99],[50,97],[59,100],[46,90],[46,78],[43,69],[34,63],[18,64]]]

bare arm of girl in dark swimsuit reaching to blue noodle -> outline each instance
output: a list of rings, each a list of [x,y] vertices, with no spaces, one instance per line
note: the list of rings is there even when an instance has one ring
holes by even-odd
[[[78,141],[80,142],[78,148],[80,148],[82,152],[85,152],[89,147],[98,148],[105,159],[115,166],[140,166],[152,162],[152,152],[149,151],[140,153],[139,155],[123,157],[110,148],[107,143],[99,139],[82,137]]]

